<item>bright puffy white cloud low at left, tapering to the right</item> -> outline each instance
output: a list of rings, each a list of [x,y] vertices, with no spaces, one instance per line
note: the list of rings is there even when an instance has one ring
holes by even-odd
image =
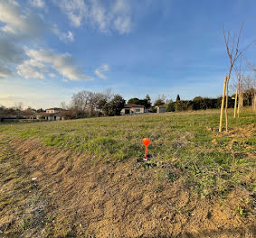
[[[26,49],[30,58],[17,67],[17,73],[24,78],[44,78],[50,69],[56,70],[62,77],[69,80],[92,80],[83,74],[69,53],[58,54],[52,50]]]

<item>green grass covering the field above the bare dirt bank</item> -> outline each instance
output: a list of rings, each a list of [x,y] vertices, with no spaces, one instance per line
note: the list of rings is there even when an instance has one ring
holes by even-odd
[[[230,111],[229,118],[231,130],[246,130],[251,124],[255,127],[256,117],[250,110],[244,110],[237,119],[232,118]],[[26,139],[37,137],[47,146],[83,151],[98,160],[122,162],[143,158],[142,139],[148,137],[151,161],[142,169],[163,170],[169,182],[185,178],[203,196],[223,195],[235,186],[255,192],[255,160],[250,155],[256,151],[255,134],[218,136],[218,123],[219,110],[211,110],[0,124],[0,133]],[[161,167],[164,162],[171,164],[171,170]]]

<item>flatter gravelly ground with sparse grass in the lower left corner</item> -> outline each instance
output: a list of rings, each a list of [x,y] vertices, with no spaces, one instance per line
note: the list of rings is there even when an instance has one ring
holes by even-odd
[[[9,142],[0,141],[0,237],[44,237],[47,198]]]

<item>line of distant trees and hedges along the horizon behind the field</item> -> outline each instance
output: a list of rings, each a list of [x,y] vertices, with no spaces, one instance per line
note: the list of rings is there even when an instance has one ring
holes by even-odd
[[[252,105],[253,96],[256,93],[255,87],[248,83],[243,86],[243,105]],[[235,95],[228,97],[228,107],[234,106]],[[144,105],[147,113],[156,113],[156,106],[165,106],[166,112],[181,112],[189,110],[206,110],[213,108],[221,108],[222,96],[209,98],[203,96],[195,96],[193,100],[181,100],[180,96],[176,96],[176,100],[166,99],[165,95],[157,96],[154,103],[149,95],[139,99],[132,97],[128,99],[128,104]],[[119,94],[112,93],[111,89],[105,92],[91,92],[82,90],[71,96],[71,103],[62,102],[61,107],[65,109],[63,112],[65,119],[77,119],[93,116],[114,116],[119,115],[122,108],[125,106],[126,100]],[[16,115],[31,115],[43,112],[42,108],[33,109],[27,107],[24,109],[22,103],[16,104],[13,107],[5,107],[0,105],[0,114],[16,114]]]

